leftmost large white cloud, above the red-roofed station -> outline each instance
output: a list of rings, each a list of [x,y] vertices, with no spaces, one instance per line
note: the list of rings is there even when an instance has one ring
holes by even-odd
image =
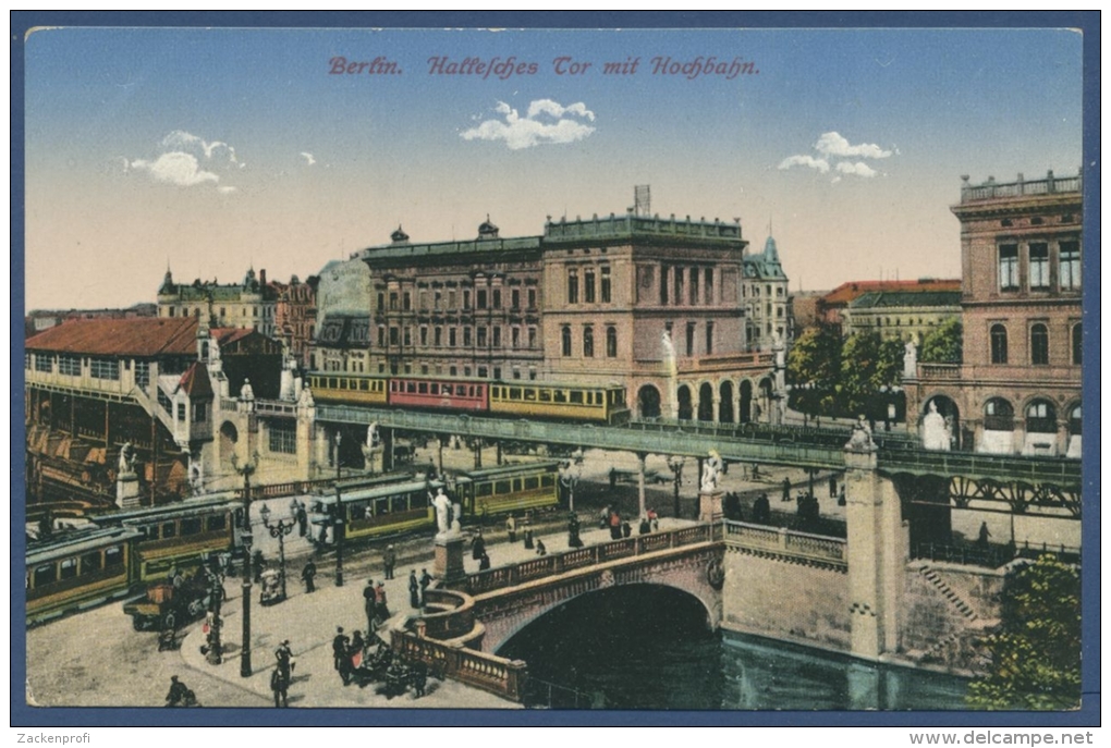
[[[229,194],[237,190],[219,184],[220,174],[247,165],[239,161],[236,149],[228,143],[206,141],[184,130],[170,132],[159,146],[161,153],[154,158],[124,159],[124,171],[142,172],[156,182],[180,188],[213,184],[221,194]]]

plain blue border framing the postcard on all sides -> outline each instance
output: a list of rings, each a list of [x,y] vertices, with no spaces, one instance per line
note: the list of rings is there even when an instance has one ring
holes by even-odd
[[[1083,402],[1089,423],[1098,423],[1100,373],[1100,13],[1052,12],[63,12],[12,11],[11,20],[11,412],[23,411],[23,44],[36,26],[88,27],[509,27],[509,28],[1075,28],[1083,32],[1084,150],[1084,368]],[[22,582],[26,492],[22,418],[11,429],[11,590]],[[829,712],[829,711],[489,711],[312,709],[293,712],[254,709],[32,709],[24,702],[27,649],[24,603],[12,595],[11,726],[213,727],[213,726],[783,726],[793,727],[1067,727],[1100,725],[1100,433],[1089,427],[1083,442],[1082,527],[1083,706],[1070,714],[1041,712]]]

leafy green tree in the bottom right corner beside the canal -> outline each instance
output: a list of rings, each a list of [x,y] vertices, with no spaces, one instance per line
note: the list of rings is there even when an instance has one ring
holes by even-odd
[[[969,686],[984,709],[1080,706],[1080,572],[1044,555],[1008,576],[991,667]]]

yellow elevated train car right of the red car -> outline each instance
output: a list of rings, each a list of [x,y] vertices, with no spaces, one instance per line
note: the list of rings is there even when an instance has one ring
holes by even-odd
[[[585,421],[609,425],[629,422],[625,391],[620,385],[499,382],[490,386],[490,413],[521,418]]]

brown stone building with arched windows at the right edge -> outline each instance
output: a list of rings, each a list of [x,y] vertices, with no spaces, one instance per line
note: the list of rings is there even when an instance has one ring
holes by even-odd
[[[908,412],[944,417],[945,438],[920,428],[937,448],[1079,457],[1080,178],[964,178],[952,211],[961,222],[963,361],[919,364]]]

